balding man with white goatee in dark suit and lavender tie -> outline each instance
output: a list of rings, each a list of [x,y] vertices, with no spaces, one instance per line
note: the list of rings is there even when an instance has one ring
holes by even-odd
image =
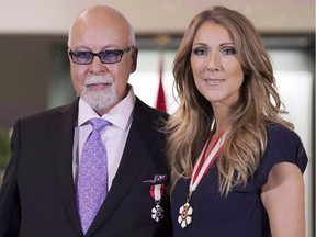
[[[0,192],[0,236],[170,236],[159,133],[167,115],[136,98],[127,82],[137,60],[133,29],[116,10],[93,7],[75,21],[68,46],[79,97],[16,122]],[[106,127],[97,133],[91,119],[100,117]],[[94,133],[90,145],[102,153],[88,156]]]

